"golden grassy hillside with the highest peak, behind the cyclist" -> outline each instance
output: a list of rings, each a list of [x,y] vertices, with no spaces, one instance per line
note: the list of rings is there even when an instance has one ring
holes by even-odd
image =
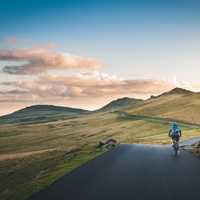
[[[125,111],[134,115],[157,116],[200,124],[200,94],[176,88],[146,100],[139,107]]]

